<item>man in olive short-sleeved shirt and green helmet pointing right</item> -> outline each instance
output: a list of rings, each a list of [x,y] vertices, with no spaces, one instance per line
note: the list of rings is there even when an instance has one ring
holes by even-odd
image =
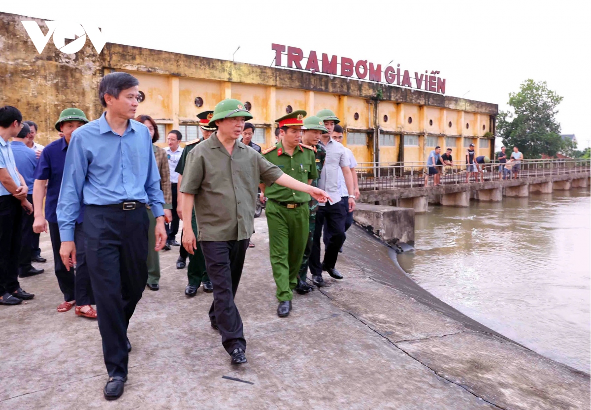
[[[248,240],[254,230],[259,180],[307,192],[320,202],[329,199],[324,191],[285,175],[261,154],[238,141],[245,120],[251,118],[251,113],[238,100],[217,103],[210,123],[217,125],[218,130],[187,155],[180,188],[182,213],[189,215],[194,207],[198,240],[213,283],[209,318],[212,327],[222,334],[223,347],[232,357],[233,365],[246,363],[246,340],[234,297]],[[191,254],[197,246],[188,224],[183,225],[183,246]]]

